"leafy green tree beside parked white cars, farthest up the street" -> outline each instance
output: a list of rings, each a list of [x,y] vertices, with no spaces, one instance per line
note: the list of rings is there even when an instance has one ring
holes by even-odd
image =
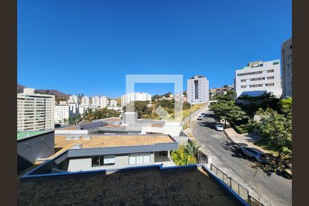
[[[233,101],[219,101],[216,104],[211,104],[210,108],[217,117],[225,119],[225,126],[227,126],[227,120],[235,122],[247,117],[246,113],[239,106],[236,106]]]

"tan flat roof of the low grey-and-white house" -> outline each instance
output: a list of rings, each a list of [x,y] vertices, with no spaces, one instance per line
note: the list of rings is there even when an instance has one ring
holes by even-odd
[[[58,156],[65,150],[71,149],[76,144],[82,144],[84,148],[111,148],[123,146],[145,146],[159,143],[174,143],[169,135],[69,135],[80,136],[80,139],[67,140],[67,135],[55,135],[55,150],[54,155],[49,159]],[[90,139],[84,139],[89,137]]]

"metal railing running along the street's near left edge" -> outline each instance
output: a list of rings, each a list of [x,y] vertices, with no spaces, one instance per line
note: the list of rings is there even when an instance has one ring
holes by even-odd
[[[258,201],[256,198],[253,198],[249,194],[249,190],[242,186],[237,181],[233,180],[230,176],[225,174],[225,172],[222,172],[219,168],[217,168],[215,165],[210,165],[210,170],[218,176],[219,179],[221,179],[225,184],[227,184],[231,189],[236,192],[244,201],[246,201],[249,205],[252,206],[264,206],[260,201]],[[262,198],[259,194],[259,200]]]

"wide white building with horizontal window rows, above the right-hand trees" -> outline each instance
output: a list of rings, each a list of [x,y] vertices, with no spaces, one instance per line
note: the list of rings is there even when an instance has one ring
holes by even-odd
[[[235,71],[234,90],[240,95],[258,96],[264,92],[282,95],[279,60],[249,62]]]

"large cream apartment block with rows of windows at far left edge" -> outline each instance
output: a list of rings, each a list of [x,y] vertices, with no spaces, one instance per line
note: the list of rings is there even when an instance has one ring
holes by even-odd
[[[17,130],[52,130],[54,124],[55,95],[34,93],[25,88],[17,93]]]

